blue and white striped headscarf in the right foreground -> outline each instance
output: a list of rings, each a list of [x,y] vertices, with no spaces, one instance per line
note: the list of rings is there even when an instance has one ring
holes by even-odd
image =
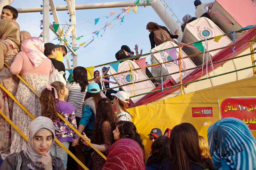
[[[256,140],[237,118],[223,118],[209,126],[208,143],[216,169],[256,169]]]

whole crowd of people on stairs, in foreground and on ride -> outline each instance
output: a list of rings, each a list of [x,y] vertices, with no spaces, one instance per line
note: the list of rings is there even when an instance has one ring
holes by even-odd
[[[200,9],[196,16],[206,15],[203,13],[205,4],[196,0],[195,6]],[[106,94],[106,98],[101,90],[109,87],[109,78],[88,82],[87,70],[80,66],[74,68],[72,81],[49,84],[53,69],[65,73],[62,61],[67,49],[65,46],[44,43],[26,31],[20,31],[15,22],[17,17],[15,8],[3,7],[0,20],[0,83],[17,101],[14,102],[0,89],[0,107],[20,131],[0,117],[0,170],[75,169],[76,162],[55,139],[74,155],[79,147],[85,158],[84,164],[93,170],[256,169],[256,140],[247,125],[236,118],[224,118],[210,125],[208,142],[198,135],[190,123],[167,128],[164,133],[159,128],[153,128],[148,134],[151,151],[145,155],[140,132],[131,122],[133,115],[126,110],[129,95],[113,90]],[[179,36],[177,31],[172,35],[166,27],[153,22],[148,23],[147,29],[152,48],[164,41],[174,41]],[[137,56],[137,45],[135,53]],[[134,57],[134,53],[123,45],[116,58],[121,60],[128,57]],[[101,73],[95,71],[94,78],[100,74],[107,75],[109,69],[103,67]],[[19,80],[17,74],[40,97]],[[155,85],[158,85],[157,82]],[[28,111],[31,116],[27,114]],[[69,124],[82,134],[81,138]],[[20,132],[27,137],[28,144]],[[88,142],[107,159],[94,151]],[[71,164],[71,168],[68,164]]]

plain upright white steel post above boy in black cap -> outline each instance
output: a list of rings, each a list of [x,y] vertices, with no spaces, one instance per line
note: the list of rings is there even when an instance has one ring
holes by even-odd
[[[43,0],[43,41],[50,41],[49,0]]]

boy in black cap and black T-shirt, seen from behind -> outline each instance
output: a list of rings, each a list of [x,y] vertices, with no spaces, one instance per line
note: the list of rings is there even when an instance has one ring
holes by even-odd
[[[51,60],[53,63],[53,66],[55,69],[57,69],[59,72],[63,71],[63,77],[66,80],[66,73],[65,73],[65,66],[61,61],[56,60],[57,59],[57,48],[59,48],[60,45],[55,45],[53,43],[45,43],[45,56]]]

